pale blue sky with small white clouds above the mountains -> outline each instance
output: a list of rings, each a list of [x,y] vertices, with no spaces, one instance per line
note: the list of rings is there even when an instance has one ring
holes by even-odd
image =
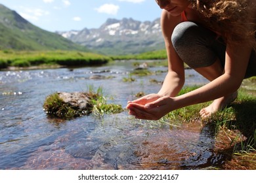
[[[161,14],[155,0],[0,0],[0,4],[52,32],[98,28],[108,18],[152,21]]]

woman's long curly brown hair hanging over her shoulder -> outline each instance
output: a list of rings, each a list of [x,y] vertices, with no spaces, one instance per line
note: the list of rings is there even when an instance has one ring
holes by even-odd
[[[207,26],[230,44],[249,42],[256,48],[255,22],[249,12],[255,8],[247,0],[189,0],[205,18]],[[254,15],[253,15],[254,16]]]

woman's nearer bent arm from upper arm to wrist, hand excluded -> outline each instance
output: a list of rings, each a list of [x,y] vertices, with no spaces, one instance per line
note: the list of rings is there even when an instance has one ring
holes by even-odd
[[[247,44],[236,46],[228,44],[223,75],[197,90],[176,97],[174,99],[176,105],[170,109],[175,110],[188,105],[211,101],[236,92],[244,79],[251,50],[251,46]]]

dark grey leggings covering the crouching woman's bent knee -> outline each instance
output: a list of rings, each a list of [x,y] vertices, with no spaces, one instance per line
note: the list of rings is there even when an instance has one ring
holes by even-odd
[[[195,24],[182,22],[173,30],[173,47],[179,57],[193,69],[212,65],[217,58],[224,68],[226,44],[213,31]],[[256,54],[252,50],[245,78],[256,76]]]

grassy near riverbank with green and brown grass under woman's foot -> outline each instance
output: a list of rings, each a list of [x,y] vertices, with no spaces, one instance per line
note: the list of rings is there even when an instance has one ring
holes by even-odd
[[[215,139],[215,152],[226,160],[221,169],[256,169],[256,88],[255,78],[244,80],[238,98],[223,111],[202,120],[198,111],[211,102],[170,112],[165,118],[183,123],[196,122],[209,130]],[[193,90],[193,88],[188,88]],[[186,91],[187,92],[187,91]]]

